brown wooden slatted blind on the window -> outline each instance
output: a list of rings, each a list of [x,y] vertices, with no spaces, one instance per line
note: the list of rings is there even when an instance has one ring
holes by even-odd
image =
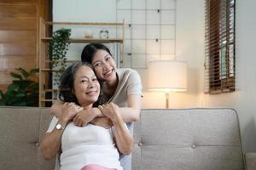
[[[205,92],[233,92],[235,83],[235,0],[206,0]]]

